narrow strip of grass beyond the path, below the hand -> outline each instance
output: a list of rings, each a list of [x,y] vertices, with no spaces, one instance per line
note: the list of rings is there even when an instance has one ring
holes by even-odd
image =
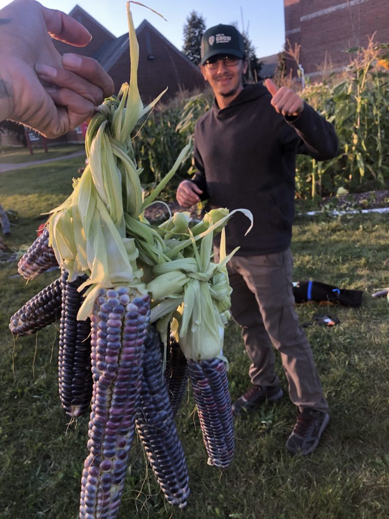
[[[0,164],[16,164],[20,162],[34,162],[35,160],[47,160],[58,157],[66,157],[66,155],[70,155],[71,153],[83,152],[85,147],[84,143],[59,144],[55,146],[48,146],[47,149],[48,152],[46,153],[42,147],[33,146],[34,153],[31,155],[28,148],[0,146]]]

